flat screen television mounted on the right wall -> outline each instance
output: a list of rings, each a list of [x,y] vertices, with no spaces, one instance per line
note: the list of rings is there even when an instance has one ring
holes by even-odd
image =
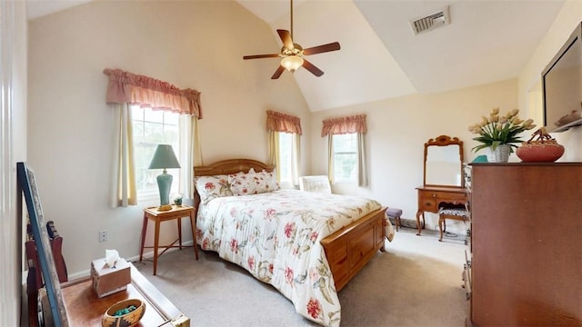
[[[582,124],[582,24],[542,72],[544,126],[563,132]]]

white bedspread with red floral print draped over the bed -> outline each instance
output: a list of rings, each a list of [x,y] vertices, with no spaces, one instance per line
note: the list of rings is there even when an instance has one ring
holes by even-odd
[[[200,203],[196,239],[267,282],[307,319],[339,326],[333,276],[319,241],[381,207],[361,197],[277,190]]]

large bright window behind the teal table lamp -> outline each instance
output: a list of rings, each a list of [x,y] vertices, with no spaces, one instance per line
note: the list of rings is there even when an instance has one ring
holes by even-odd
[[[135,187],[140,200],[158,196],[156,177],[162,173],[161,169],[148,169],[157,144],[170,144],[180,158],[179,147],[179,114],[151,108],[132,106],[134,158],[135,158]],[[178,159],[179,160],[179,159]],[[167,173],[173,178],[170,194],[178,193],[179,169],[168,169]]]

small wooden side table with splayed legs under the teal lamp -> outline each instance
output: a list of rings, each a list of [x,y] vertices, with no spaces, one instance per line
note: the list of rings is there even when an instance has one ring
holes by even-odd
[[[190,217],[190,223],[192,224],[192,241],[194,244],[192,245],[182,245],[182,218]],[[164,251],[162,253],[157,253],[159,248],[159,239],[160,239],[160,223],[166,222],[169,220],[176,219],[178,223],[178,238],[176,241],[169,245],[162,245],[164,247]],[[144,246],[146,243],[146,231],[147,231],[147,221],[152,220],[156,223],[155,227],[155,236],[154,236],[154,246]],[[178,245],[175,245],[176,242]],[[144,209],[144,223],[142,225],[142,239],[141,245],[139,248],[139,261],[141,262],[144,257],[144,249],[154,248],[154,275],[156,275],[157,270],[157,257],[164,254],[170,248],[180,248],[182,250],[183,247],[194,247],[194,252],[196,253],[196,260],[198,260],[198,248],[196,247],[196,217],[194,213],[194,207],[189,205],[172,205],[172,210],[168,211],[157,211],[157,207],[149,207]]]

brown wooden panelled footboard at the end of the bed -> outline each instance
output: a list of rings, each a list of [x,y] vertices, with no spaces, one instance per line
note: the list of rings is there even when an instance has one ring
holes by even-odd
[[[339,292],[378,252],[384,251],[383,207],[321,240]]]

